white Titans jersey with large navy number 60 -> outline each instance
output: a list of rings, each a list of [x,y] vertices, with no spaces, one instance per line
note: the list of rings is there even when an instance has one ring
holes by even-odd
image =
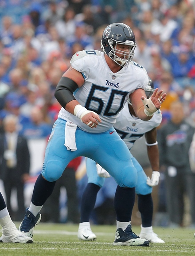
[[[70,64],[81,72],[85,79],[84,84],[74,92],[74,97],[87,110],[96,112],[101,118],[101,123],[97,128],[91,129],[64,108],[60,110],[58,117],[70,120],[90,133],[109,130],[115,124],[129,94],[148,85],[148,75],[142,66],[132,61],[127,67],[113,73],[105,61],[104,53],[97,50],[75,53]]]

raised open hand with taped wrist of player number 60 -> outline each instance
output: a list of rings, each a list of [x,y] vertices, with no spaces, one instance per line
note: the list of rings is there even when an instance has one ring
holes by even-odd
[[[158,88],[152,93],[150,98],[141,97],[141,100],[144,104],[144,112],[147,116],[152,116],[158,109],[160,109],[160,105],[166,99],[166,93],[163,93],[163,90],[158,91]]]

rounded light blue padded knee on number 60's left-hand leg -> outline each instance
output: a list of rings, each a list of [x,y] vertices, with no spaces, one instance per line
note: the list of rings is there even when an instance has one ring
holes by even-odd
[[[56,181],[62,176],[65,167],[58,160],[47,161],[46,165],[43,164],[43,170],[41,174],[47,181]]]

